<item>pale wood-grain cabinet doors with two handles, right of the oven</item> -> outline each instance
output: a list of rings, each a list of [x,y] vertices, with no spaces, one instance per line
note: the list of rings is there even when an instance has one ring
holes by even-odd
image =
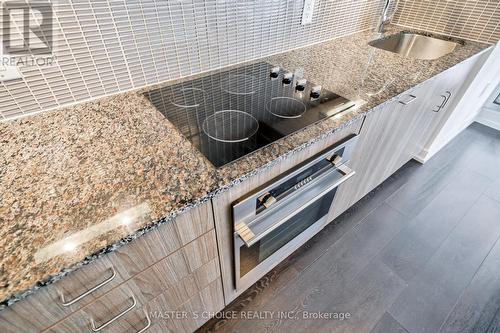
[[[456,118],[452,114],[484,57],[485,54],[478,54],[467,59],[366,116],[351,159],[357,174],[339,188],[332,218],[412,158],[425,159],[428,147],[447,130],[450,119]]]

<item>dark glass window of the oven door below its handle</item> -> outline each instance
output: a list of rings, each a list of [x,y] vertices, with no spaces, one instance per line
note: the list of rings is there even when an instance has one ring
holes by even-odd
[[[328,214],[337,188],[319,198],[250,247],[239,251],[240,278]]]

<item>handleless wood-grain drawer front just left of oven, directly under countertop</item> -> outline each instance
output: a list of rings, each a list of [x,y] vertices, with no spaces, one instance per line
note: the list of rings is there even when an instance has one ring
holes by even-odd
[[[213,228],[212,206],[207,202],[122,246],[110,258],[128,279]]]

